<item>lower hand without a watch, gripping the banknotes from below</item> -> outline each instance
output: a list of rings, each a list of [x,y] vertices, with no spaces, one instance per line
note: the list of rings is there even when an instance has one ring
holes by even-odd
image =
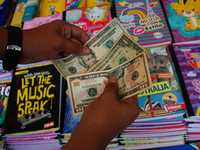
[[[102,150],[139,115],[137,95],[118,100],[117,79],[111,77],[104,92],[84,111],[63,149]],[[75,144],[79,141],[79,144]]]

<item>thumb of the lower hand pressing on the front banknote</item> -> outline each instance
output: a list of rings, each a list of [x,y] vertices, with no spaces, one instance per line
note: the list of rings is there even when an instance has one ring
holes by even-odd
[[[117,96],[118,83],[117,83],[117,78],[115,76],[109,78],[108,83],[106,84],[106,87],[104,89],[104,92],[111,92]]]

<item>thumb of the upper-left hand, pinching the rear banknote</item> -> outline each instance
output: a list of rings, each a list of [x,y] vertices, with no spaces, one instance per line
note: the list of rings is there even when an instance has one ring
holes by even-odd
[[[75,55],[88,55],[90,54],[90,49],[81,43],[69,41],[65,39],[63,44],[63,49],[67,50],[68,53],[75,54]],[[66,52],[66,51],[65,51]]]

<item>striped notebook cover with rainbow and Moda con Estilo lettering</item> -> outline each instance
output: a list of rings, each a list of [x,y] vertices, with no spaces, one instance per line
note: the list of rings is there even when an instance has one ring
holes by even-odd
[[[172,38],[159,0],[115,0],[116,16],[143,47],[170,45]]]

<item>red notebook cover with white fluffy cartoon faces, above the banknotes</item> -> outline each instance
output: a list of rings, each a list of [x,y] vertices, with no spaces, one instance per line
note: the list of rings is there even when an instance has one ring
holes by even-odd
[[[82,28],[90,37],[94,36],[111,20],[107,4],[95,7],[72,9],[64,12],[65,21]]]

